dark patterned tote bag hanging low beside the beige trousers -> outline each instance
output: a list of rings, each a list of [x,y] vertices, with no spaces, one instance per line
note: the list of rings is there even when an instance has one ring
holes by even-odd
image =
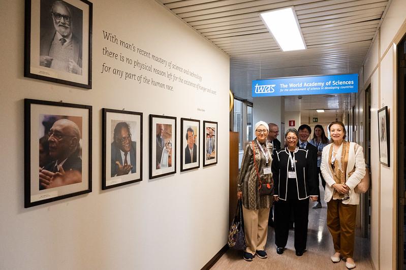
[[[246,249],[241,199],[239,199],[237,203],[237,210],[235,211],[234,219],[228,232],[227,244],[230,248],[235,250],[245,251]]]

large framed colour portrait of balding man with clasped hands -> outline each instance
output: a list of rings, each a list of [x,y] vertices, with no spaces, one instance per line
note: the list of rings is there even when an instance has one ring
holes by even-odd
[[[24,100],[24,207],[91,192],[91,106]]]

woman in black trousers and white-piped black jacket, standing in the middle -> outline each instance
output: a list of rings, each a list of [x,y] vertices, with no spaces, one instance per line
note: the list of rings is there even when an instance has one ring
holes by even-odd
[[[306,249],[309,200],[317,200],[317,180],[308,150],[297,147],[298,132],[285,133],[286,147],[276,151],[272,161],[276,253],[284,253],[289,236],[289,217],[294,213],[295,250],[302,256]]]

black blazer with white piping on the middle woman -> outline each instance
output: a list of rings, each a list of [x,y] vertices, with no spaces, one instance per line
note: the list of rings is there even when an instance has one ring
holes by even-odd
[[[287,200],[288,170],[290,166],[288,148],[276,151],[272,160],[272,174],[274,181],[274,195],[280,199]],[[316,170],[314,162],[309,157],[309,151],[298,148],[294,152],[296,172],[296,183],[298,188],[298,199],[306,199],[309,196],[317,196]]]

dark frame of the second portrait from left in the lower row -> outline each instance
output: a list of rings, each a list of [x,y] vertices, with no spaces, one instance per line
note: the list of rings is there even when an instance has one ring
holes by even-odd
[[[110,164],[110,162],[107,162],[107,144],[110,142],[107,142],[107,114],[108,113],[117,113],[117,114],[130,114],[130,115],[138,115],[140,117],[140,141],[137,143],[137,149],[136,152],[140,153],[140,158],[137,160],[136,164],[140,164],[139,172],[140,172],[140,178],[129,180],[126,182],[121,182],[113,185],[106,185],[106,179],[107,179],[107,164]],[[102,109],[102,189],[110,189],[114,187],[119,187],[135,182],[142,181],[142,137],[143,137],[143,132],[142,132],[142,116],[143,113],[140,112],[131,112],[131,111],[120,111],[120,110],[114,110],[114,109]]]

